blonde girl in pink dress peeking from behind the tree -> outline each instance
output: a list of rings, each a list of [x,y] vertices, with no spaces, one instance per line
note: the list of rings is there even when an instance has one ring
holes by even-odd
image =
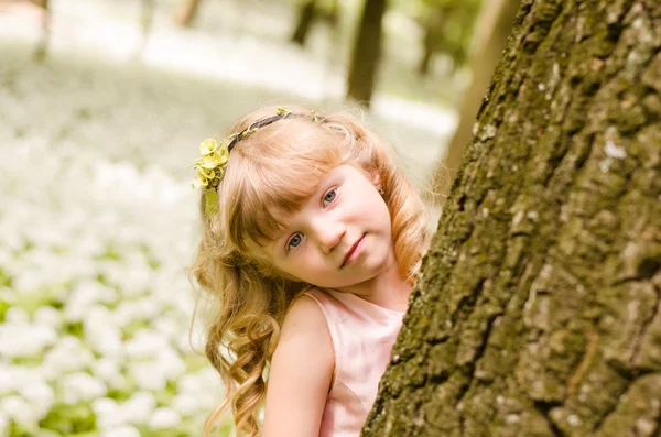
[[[192,273],[217,296],[206,354],[227,387],[205,435],[229,404],[239,435],[358,436],[427,247],[422,203],[348,114],[267,108],[232,132],[195,163]]]

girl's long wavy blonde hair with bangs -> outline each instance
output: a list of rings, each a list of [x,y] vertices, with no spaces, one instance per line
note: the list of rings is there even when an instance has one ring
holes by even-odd
[[[231,132],[274,113],[275,108],[258,110]],[[258,414],[280,325],[292,301],[311,284],[275,271],[249,252],[247,241],[268,241],[333,167],[350,164],[379,175],[400,274],[411,284],[418,276],[429,243],[420,197],[382,141],[356,118],[346,113],[317,117],[289,117],[242,139],[231,151],[217,188],[218,214],[207,217],[205,196],[201,198],[203,236],[191,274],[218,304],[207,327],[206,356],[226,387],[223,404],[205,423],[205,436],[228,405],[238,435],[259,434]]]

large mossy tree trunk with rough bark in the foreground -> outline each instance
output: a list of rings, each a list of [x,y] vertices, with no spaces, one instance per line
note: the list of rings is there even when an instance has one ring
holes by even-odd
[[[514,21],[362,436],[661,435],[661,2]]]

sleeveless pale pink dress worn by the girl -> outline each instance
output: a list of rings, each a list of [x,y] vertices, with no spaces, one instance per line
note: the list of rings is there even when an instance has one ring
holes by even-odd
[[[377,398],[404,313],[383,308],[351,293],[312,288],[335,350],[335,373],[319,437],[358,437]]]

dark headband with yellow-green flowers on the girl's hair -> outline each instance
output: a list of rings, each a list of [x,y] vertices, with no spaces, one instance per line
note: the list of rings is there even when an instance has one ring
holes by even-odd
[[[204,140],[202,143],[199,143],[199,154],[202,156],[193,164],[193,168],[197,170],[197,179],[193,182],[193,188],[204,188],[205,212],[208,217],[212,217],[217,212],[218,192],[216,188],[218,187],[218,184],[225,174],[225,167],[229,161],[229,152],[231,152],[239,141],[249,134],[257,132],[260,128],[288,117],[306,117],[306,114],[292,113],[281,107],[278,108],[275,116],[256,121],[243,131],[239,133],[232,133],[228,138],[223,139],[220,143],[218,143],[216,136]],[[314,122],[319,120],[314,110],[312,111],[312,120]]]

